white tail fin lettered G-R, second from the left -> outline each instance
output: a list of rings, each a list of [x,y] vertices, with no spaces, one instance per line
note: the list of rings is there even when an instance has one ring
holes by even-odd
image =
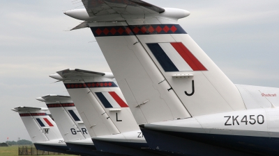
[[[89,139],[93,144],[70,96],[46,95],[36,99],[46,103],[65,142]]]

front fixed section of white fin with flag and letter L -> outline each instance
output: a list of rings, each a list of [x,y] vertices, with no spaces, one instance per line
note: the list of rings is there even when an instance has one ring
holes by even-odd
[[[140,130],[115,80],[108,80],[104,76],[95,76],[92,79],[84,77],[83,80],[91,94],[98,100],[98,103],[94,104],[103,107],[119,132]],[[94,84],[103,86],[93,87]]]

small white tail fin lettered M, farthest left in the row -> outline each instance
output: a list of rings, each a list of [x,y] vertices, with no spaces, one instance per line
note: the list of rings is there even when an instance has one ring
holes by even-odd
[[[13,111],[20,114],[33,143],[65,145],[56,123],[45,112],[47,108],[20,106]]]

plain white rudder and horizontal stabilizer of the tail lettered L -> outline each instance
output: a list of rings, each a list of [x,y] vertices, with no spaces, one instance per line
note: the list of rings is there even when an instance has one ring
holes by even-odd
[[[94,105],[94,103],[98,103],[97,99],[93,94],[90,94],[91,91],[86,87],[84,81],[80,80],[81,76],[93,78],[94,76],[105,75],[105,73],[80,71],[80,69],[64,69],[57,71],[50,77],[63,80],[91,137],[119,134],[119,130],[110,119],[110,116],[103,110],[103,107]],[[68,89],[69,87],[73,89]]]

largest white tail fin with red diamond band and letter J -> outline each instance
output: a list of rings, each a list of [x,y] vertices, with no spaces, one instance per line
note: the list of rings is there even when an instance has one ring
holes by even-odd
[[[173,12],[89,23],[137,123],[245,110],[239,90]]]

